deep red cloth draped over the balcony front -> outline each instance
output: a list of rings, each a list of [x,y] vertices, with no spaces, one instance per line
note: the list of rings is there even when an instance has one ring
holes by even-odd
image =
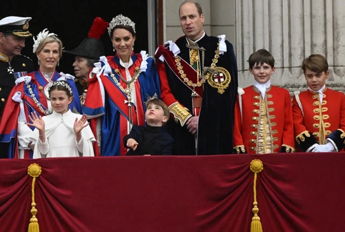
[[[253,177],[269,231],[345,231],[345,153],[0,160],[0,231],[250,231]]]

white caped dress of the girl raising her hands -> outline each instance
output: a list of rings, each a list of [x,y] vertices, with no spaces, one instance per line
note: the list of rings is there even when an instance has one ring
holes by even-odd
[[[95,156],[92,142],[96,139],[90,126],[81,130],[79,143],[75,139],[73,125],[76,117],[80,119],[82,115],[72,113],[70,110],[63,115],[53,111],[51,115],[42,117],[46,125],[46,141],[42,143],[39,140],[37,128],[32,131],[30,139],[34,144],[33,158]]]

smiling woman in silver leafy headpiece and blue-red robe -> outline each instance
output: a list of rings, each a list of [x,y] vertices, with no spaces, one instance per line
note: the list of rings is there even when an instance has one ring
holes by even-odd
[[[144,102],[148,96],[160,96],[159,77],[155,61],[146,51],[133,51],[136,33],[132,20],[117,15],[109,23],[108,34],[116,52],[101,57],[90,72],[83,113],[92,118],[90,125],[99,144],[96,155],[126,155],[122,139],[133,124],[145,126]]]

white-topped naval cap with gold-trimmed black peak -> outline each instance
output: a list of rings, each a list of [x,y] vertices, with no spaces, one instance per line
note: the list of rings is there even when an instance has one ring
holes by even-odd
[[[9,16],[0,20],[0,32],[12,33],[17,37],[32,37],[29,32],[31,17]]]

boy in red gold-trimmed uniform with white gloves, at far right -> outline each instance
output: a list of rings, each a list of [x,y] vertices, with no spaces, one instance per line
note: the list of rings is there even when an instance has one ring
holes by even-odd
[[[302,64],[308,90],[293,98],[295,139],[303,151],[341,151],[345,140],[345,95],[326,87],[328,62],[313,54]]]

